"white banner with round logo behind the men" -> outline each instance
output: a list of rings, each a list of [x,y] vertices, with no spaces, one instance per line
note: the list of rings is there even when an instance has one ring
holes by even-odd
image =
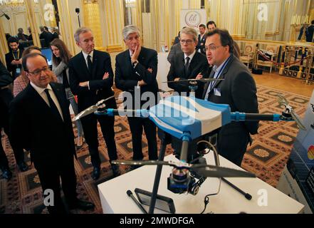
[[[198,28],[200,24],[204,24],[206,26],[206,10],[205,9],[182,9],[181,10],[180,29],[183,27]]]

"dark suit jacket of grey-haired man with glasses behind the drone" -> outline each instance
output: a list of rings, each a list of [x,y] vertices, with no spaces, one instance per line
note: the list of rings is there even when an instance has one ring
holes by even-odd
[[[196,52],[192,61],[189,63],[189,73],[185,75],[184,72],[184,53],[178,53],[174,58],[172,58],[170,70],[167,76],[168,81],[174,81],[174,78],[181,79],[192,79],[197,78],[199,73],[204,74],[208,69],[208,63],[206,56],[202,53]],[[189,82],[179,82],[179,83],[168,83],[169,88],[174,89],[175,91],[189,92]],[[196,97],[201,98],[203,93],[204,83],[198,83],[198,88],[196,91]]]

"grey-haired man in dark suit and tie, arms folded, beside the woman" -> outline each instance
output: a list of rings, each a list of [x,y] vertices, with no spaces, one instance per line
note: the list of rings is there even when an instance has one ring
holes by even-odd
[[[78,95],[78,112],[81,112],[98,101],[115,94],[111,88],[113,71],[109,54],[94,50],[94,37],[90,28],[78,28],[74,36],[76,44],[82,48],[82,52],[70,59],[68,68],[70,88],[74,95]],[[117,108],[115,98],[106,101],[105,105],[107,108]],[[115,117],[88,115],[81,121],[94,167],[92,177],[97,180],[100,177],[101,164],[98,152],[97,121],[100,123],[111,163],[112,160],[117,160]],[[118,165],[111,164],[111,167],[114,175],[120,175]]]

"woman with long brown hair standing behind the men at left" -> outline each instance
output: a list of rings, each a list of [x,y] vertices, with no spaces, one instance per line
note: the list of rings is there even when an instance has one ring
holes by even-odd
[[[51,51],[53,52],[53,73],[56,74],[58,83],[62,83],[64,88],[66,88],[66,97],[70,101],[70,105],[72,106],[75,115],[78,115],[78,104],[70,90],[69,84],[68,61],[72,57],[70,51],[68,51],[66,44],[59,38],[55,38],[51,42]],[[83,128],[80,120],[76,121],[76,126],[78,127],[78,139],[76,145],[80,147],[83,145]]]

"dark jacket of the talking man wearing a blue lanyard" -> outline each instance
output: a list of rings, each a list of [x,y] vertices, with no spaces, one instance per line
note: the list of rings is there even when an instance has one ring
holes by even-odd
[[[214,78],[214,71],[211,72],[209,78]],[[229,63],[227,63],[224,71],[222,71],[220,78],[224,79],[224,81],[216,81],[214,89],[209,93],[209,101],[228,104],[230,105],[231,112],[258,113],[255,81],[248,68],[234,55],[231,55]],[[209,83],[204,88],[203,98],[205,98],[208,87]],[[238,133],[237,128],[245,128],[247,134],[244,137],[248,137],[248,133],[257,133],[258,121],[229,123],[228,125],[224,125],[221,131],[226,135],[230,135]]]

